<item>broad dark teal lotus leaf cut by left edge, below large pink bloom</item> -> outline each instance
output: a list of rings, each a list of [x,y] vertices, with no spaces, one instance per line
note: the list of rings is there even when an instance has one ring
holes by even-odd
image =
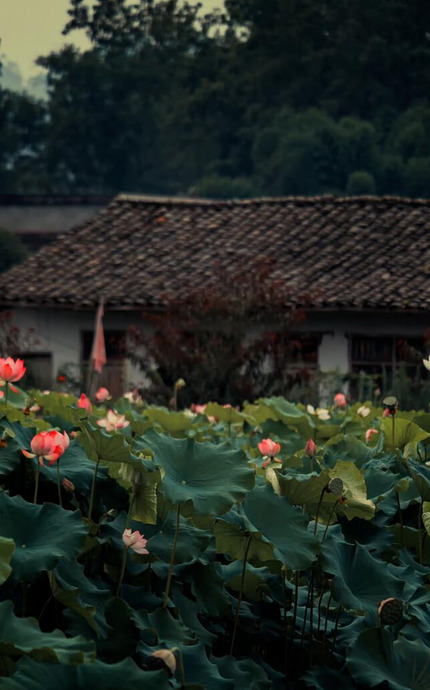
[[[2,536],[15,541],[12,579],[29,582],[42,570],[52,570],[61,558],[75,558],[82,550],[87,528],[78,511],[53,503],[35,506],[21,496],[0,493]]]

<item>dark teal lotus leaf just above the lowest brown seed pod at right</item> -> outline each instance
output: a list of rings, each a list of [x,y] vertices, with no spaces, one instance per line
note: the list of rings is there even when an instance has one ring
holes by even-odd
[[[321,565],[334,575],[331,591],[346,609],[375,611],[388,597],[401,598],[404,583],[391,574],[388,564],[372,556],[361,544],[347,544],[332,536],[321,543]]]

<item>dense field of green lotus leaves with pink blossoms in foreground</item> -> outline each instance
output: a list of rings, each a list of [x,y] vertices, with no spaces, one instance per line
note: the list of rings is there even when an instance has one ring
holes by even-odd
[[[429,687],[428,413],[91,406],[8,362],[2,689]]]

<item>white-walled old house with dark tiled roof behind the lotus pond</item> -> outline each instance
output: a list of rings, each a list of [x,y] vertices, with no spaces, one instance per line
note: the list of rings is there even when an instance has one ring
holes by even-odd
[[[121,194],[0,276],[0,306],[23,331],[35,329],[39,342],[23,354],[46,386],[65,365],[82,371],[103,297],[105,383],[125,387],[135,373],[119,342],[143,308],[162,310],[165,295],[204,289],[219,267],[257,256],[274,259],[293,300],[310,294],[297,328],[311,337],[310,367],[371,375],[417,367],[430,325],[427,200]]]

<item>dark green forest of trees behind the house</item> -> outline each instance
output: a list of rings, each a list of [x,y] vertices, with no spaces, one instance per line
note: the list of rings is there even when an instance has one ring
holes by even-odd
[[[48,98],[0,90],[3,193],[429,196],[426,0],[72,0]]]

